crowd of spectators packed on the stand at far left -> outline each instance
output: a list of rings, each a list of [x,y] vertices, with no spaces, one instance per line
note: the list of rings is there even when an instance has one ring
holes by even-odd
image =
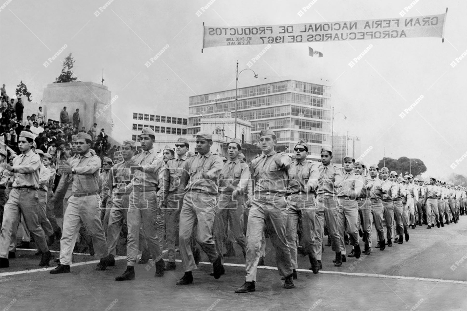
[[[5,85],[3,85],[1,92],[0,138],[3,137],[5,145],[16,154],[19,154],[18,137],[21,131],[28,131],[36,135],[34,141],[37,148],[44,153],[49,153],[54,158],[59,155],[60,160],[66,160],[71,154],[71,136],[78,134],[78,132],[85,132],[91,135],[93,149],[97,155],[113,158],[117,147],[111,148],[103,128],[99,133],[97,132],[97,123],[94,123],[88,131],[85,127],[78,128],[80,123],[79,109],[76,109],[72,120],[68,117],[66,107],[60,113],[60,120],[46,120],[42,107],[39,107],[37,113],[24,118],[24,104],[21,98],[15,101],[7,96],[4,90]],[[11,150],[8,149],[8,152],[11,153]]]

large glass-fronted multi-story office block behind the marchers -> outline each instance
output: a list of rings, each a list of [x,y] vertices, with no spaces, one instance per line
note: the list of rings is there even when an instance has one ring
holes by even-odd
[[[299,139],[309,143],[311,159],[318,159],[323,146],[331,146],[331,87],[297,80],[238,89],[237,118],[251,122],[250,137],[242,142],[257,144],[262,129],[274,130],[278,146],[293,152]],[[235,89],[190,97],[188,134],[200,129],[201,118],[235,116]]]

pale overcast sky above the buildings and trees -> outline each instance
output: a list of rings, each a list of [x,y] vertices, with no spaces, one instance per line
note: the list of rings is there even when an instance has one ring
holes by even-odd
[[[118,95],[113,136],[129,139],[133,110],[186,116],[189,96],[234,88],[235,62],[239,69],[248,68],[264,48],[213,47],[201,53],[202,22],[226,27],[396,18],[411,1],[313,0],[299,16],[310,0],[217,0],[197,16],[208,2],[114,0],[101,12],[104,0],[13,0],[0,12],[0,83],[13,95],[23,80],[33,101],[40,102],[43,88],[61,70],[59,60],[47,68],[43,63],[66,44],[59,59],[72,52],[81,81],[100,84],[104,68],[104,84]],[[245,72],[239,81],[249,86],[291,78],[332,85],[332,105],[347,116],[335,116],[335,131],[360,137],[362,152],[371,146],[365,161],[377,163],[385,148],[386,156],[422,159],[428,167],[424,177],[467,175],[467,159],[450,167],[467,152],[467,57],[450,65],[467,49],[467,1],[419,1],[404,17],[442,14],[446,7],[444,43],[410,38],[277,44],[251,67],[258,79]],[[351,68],[349,62],[369,44],[373,47]],[[309,57],[308,46],[324,57]],[[399,114],[421,95],[402,119]]]

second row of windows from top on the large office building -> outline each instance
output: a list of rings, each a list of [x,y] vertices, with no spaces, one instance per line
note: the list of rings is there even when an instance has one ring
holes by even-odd
[[[299,104],[305,106],[315,106],[315,107],[323,107],[323,108],[330,108],[328,105],[328,99],[319,98],[317,96],[311,95],[304,95],[304,94],[297,94],[297,93],[288,93],[288,94],[277,94],[277,95],[270,95],[264,96],[260,98],[252,98],[252,99],[245,99],[239,100],[237,103],[237,109],[252,109],[257,107],[264,107],[264,106],[275,106],[275,105],[282,105],[282,104]],[[189,108],[188,115],[205,115],[207,113],[221,113],[226,111],[234,111],[235,110],[235,101],[225,102],[225,103],[212,103],[208,105],[198,106],[198,107],[191,107]]]

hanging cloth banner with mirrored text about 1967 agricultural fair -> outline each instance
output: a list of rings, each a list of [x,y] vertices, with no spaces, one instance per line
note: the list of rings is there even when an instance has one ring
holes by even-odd
[[[291,25],[203,26],[203,49],[214,46],[443,37],[446,13],[366,21]]]

